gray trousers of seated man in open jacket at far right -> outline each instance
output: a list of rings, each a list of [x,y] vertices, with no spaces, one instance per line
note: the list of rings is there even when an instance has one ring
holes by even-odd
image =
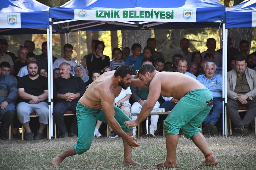
[[[243,120],[241,120],[239,113],[237,112],[238,108],[241,106],[248,107],[248,111],[246,112]],[[228,98],[227,114],[236,127],[243,125],[247,128],[256,116],[256,98],[253,98],[253,100],[247,99],[247,104],[241,104],[238,100]]]

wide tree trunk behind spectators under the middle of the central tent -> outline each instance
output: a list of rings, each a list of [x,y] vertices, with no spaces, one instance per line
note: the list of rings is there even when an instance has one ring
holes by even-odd
[[[141,45],[141,52],[147,44],[147,38],[151,38],[151,30],[127,30],[122,31],[122,49],[129,47],[134,43]]]

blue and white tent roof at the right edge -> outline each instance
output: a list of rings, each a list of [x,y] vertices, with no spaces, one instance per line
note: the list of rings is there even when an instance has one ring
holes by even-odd
[[[255,27],[256,1],[245,0],[238,5],[226,8],[226,28]]]

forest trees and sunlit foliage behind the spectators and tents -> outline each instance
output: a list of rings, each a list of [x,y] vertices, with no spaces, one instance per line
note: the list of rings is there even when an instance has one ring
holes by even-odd
[[[48,6],[60,6],[69,0],[38,0],[39,2]],[[242,0],[218,0],[225,6],[236,5]],[[239,41],[246,39],[249,41],[251,48],[250,53],[256,51],[255,41],[255,28],[233,28],[228,30],[228,35],[232,38],[232,47],[239,49]],[[81,49],[77,49],[77,36],[81,35]],[[70,32],[70,44],[73,45],[74,53],[72,55],[73,60],[77,58],[83,58],[84,55],[90,53],[90,42],[92,39],[99,39],[105,43],[105,49],[103,54],[112,58],[111,50],[115,47],[123,49],[124,47],[131,48],[133,43],[139,43],[143,48],[146,46],[147,38],[156,38],[157,51],[162,52],[165,55],[166,61],[172,60],[172,55],[180,50],[180,39],[187,38],[190,40],[189,51],[205,51],[206,40],[210,37],[216,40],[216,50],[222,48],[222,27],[221,28],[186,28],[186,29],[169,29],[169,30],[138,30],[138,31],[79,31]],[[32,40],[35,43],[34,53],[41,54],[41,45],[44,41],[47,41],[46,34],[26,34],[26,35],[5,35],[0,38],[5,38],[9,43],[9,51],[17,55],[19,46],[24,45],[25,40]],[[65,45],[65,39],[63,34],[53,34],[53,55],[55,57],[61,57],[63,45]],[[77,52],[77,50],[80,51]],[[80,55],[80,56],[78,56]]]

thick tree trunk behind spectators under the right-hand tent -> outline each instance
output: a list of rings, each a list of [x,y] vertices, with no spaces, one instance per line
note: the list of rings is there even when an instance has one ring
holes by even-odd
[[[243,0],[234,0],[234,5],[239,4]],[[251,48],[252,41],[252,27],[243,27],[243,28],[231,28],[228,30],[228,35],[232,38],[232,47],[239,49],[239,42],[243,39],[249,42],[249,50]]]

